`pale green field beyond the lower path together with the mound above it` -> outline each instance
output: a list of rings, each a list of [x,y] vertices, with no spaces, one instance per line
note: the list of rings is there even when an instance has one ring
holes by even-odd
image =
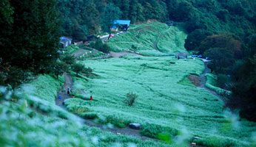
[[[164,37],[161,34],[165,34]],[[158,37],[159,51],[153,48]],[[178,28],[170,29],[155,22],[132,26],[129,32],[113,38],[109,43],[112,49],[132,50],[133,45],[137,47],[134,51],[141,54],[162,56],[186,52],[183,49],[185,37]],[[197,142],[204,146],[246,146],[252,132],[256,132],[255,123],[238,121],[237,116],[222,112],[223,104],[211,93],[182,84],[187,75],[199,75],[204,71],[201,60],[124,57],[83,63],[93,68],[99,77],[89,82],[76,79],[75,88],[88,90],[85,97],[92,95],[96,101],[70,99],[65,101],[68,107],[83,105],[100,118],[111,115],[117,121],[142,123],[144,127],[153,123],[188,132],[191,136],[203,137]],[[134,107],[124,103],[129,91],[138,94]]]

